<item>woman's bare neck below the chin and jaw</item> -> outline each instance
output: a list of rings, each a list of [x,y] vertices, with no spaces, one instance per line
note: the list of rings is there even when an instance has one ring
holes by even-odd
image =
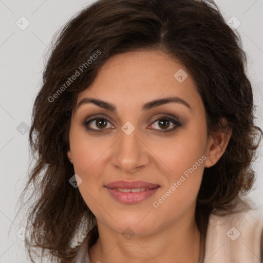
[[[182,218],[184,219],[184,218]],[[134,235],[126,240],[123,235],[98,221],[99,238],[89,248],[90,262],[127,263],[198,263],[200,232],[195,221],[179,220],[149,235]]]

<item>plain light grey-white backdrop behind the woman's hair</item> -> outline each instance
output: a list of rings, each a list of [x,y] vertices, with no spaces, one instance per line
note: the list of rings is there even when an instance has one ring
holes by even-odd
[[[22,135],[16,127],[31,124],[31,110],[40,89],[44,54],[51,37],[69,18],[93,1],[11,1],[0,0],[0,262],[29,262],[23,241],[16,236],[19,221],[14,222],[16,201],[27,178],[29,164],[28,132]],[[263,0],[218,0],[226,21],[235,16],[237,31],[248,54],[248,74],[257,106],[256,124],[263,128]],[[21,30],[16,21],[25,16],[30,25]],[[25,25],[25,24],[24,24]],[[25,125],[25,124],[24,124]],[[19,126],[18,126],[19,127]],[[261,148],[260,148],[261,149]],[[255,162],[256,189],[250,196],[258,207],[263,205],[262,158]],[[12,227],[12,228],[10,228]],[[9,231],[10,230],[10,231]]]

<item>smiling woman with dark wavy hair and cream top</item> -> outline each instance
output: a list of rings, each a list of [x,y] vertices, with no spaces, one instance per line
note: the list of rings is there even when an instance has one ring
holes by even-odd
[[[30,258],[260,262],[245,63],[212,1],[100,0],[72,18],[33,108]]]

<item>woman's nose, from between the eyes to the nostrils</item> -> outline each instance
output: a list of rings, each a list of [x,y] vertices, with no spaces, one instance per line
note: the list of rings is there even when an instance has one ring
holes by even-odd
[[[148,151],[137,129],[129,135],[121,130],[111,161],[122,172],[133,174],[149,163]]]

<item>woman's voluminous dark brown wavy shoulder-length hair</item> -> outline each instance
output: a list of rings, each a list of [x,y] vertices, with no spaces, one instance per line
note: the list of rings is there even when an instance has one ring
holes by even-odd
[[[249,207],[242,197],[254,182],[252,162],[262,131],[254,125],[247,58],[238,33],[213,1],[99,0],[54,35],[34,101],[29,144],[36,162],[22,195],[32,185],[26,227],[31,233],[25,240],[32,262],[37,249],[42,256],[48,251],[52,262],[66,262],[77,254],[79,239],[89,236],[90,246],[96,242],[96,218],[78,187],[69,183],[74,175],[66,155],[71,114],[78,94],[107,59],[139,49],[162,50],[187,68],[205,107],[208,135],[226,128],[222,118],[232,128],[222,157],[204,168],[195,212],[201,237],[211,213],[231,213],[239,201]],[[77,71],[79,76],[67,83]]]

